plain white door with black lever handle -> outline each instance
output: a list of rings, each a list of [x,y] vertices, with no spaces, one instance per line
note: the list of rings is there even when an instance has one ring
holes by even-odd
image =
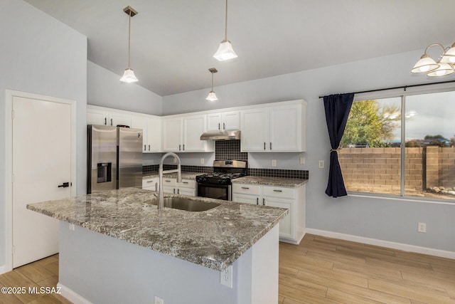
[[[58,252],[58,220],[26,204],[71,196],[71,105],[14,96],[13,268]]]

